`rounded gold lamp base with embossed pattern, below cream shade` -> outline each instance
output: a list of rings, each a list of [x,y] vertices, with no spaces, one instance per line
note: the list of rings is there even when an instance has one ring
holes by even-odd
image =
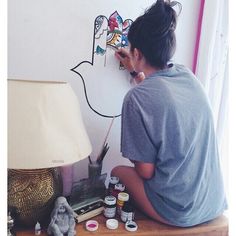
[[[18,226],[34,226],[37,221],[47,224],[54,200],[61,194],[57,168],[8,170],[8,208]]]

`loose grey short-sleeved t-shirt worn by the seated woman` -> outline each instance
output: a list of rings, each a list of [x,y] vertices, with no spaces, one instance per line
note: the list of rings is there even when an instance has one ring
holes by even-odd
[[[226,209],[212,111],[200,82],[182,65],[132,88],[122,108],[121,152],[155,164],[144,181],[156,212],[188,227]]]

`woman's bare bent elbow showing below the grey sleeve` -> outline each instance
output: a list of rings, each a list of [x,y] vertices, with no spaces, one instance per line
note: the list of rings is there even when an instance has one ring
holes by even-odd
[[[134,168],[142,179],[151,179],[154,175],[155,165],[152,163],[144,163],[139,161],[132,161]]]

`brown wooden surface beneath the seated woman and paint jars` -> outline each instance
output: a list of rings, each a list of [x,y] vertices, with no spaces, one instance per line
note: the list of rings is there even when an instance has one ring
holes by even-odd
[[[119,227],[116,230],[110,230],[106,228],[106,218],[103,215],[99,215],[93,218],[99,223],[98,230],[95,232],[89,232],[85,229],[85,222],[81,222],[76,226],[76,235],[122,235],[130,236],[169,236],[169,235],[181,235],[181,236],[227,236],[228,235],[228,219],[225,216],[220,216],[217,219],[201,224],[199,226],[190,228],[179,228],[167,226],[161,223],[154,222],[147,219],[141,214],[136,214],[135,221],[138,224],[138,230],[136,232],[128,232],[125,229],[124,223],[119,222]],[[32,236],[34,235],[33,230],[21,230],[16,233],[16,236]],[[41,236],[46,236],[45,231],[42,232]]]

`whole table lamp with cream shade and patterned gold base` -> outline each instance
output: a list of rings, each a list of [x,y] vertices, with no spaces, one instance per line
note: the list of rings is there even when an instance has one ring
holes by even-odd
[[[8,208],[15,223],[48,223],[62,195],[59,166],[91,153],[67,82],[8,80]]]

